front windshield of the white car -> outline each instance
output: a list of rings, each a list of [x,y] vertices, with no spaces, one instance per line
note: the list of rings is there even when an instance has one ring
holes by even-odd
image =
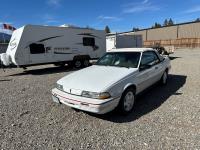
[[[96,65],[137,68],[140,52],[110,52],[101,57]]]

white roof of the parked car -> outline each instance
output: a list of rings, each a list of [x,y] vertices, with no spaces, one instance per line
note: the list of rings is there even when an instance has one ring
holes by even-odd
[[[149,50],[154,50],[153,48],[118,48],[118,49],[111,49],[107,52],[145,52]]]

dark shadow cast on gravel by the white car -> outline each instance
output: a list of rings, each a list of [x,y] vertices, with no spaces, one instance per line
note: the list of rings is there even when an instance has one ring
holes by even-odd
[[[186,82],[187,76],[169,75],[166,86],[154,85],[137,97],[134,110],[127,116],[112,111],[104,115],[90,114],[91,116],[114,123],[132,122],[159,108],[170,96],[182,95],[177,92]]]

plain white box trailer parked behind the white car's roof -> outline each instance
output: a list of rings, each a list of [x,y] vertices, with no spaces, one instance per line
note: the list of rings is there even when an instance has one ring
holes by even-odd
[[[106,37],[107,51],[116,48],[141,48],[143,47],[142,35],[108,34]]]

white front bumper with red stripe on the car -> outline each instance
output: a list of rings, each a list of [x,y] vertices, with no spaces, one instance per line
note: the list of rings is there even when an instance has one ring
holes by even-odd
[[[65,104],[69,107],[88,111],[96,114],[105,114],[114,110],[120,100],[118,98],[110,98],[106,100],[98,100],[92,98],[86,98],[76,95],[71,95],[60,91],[58,89],[52,90],[52,98],[54,102]]]

